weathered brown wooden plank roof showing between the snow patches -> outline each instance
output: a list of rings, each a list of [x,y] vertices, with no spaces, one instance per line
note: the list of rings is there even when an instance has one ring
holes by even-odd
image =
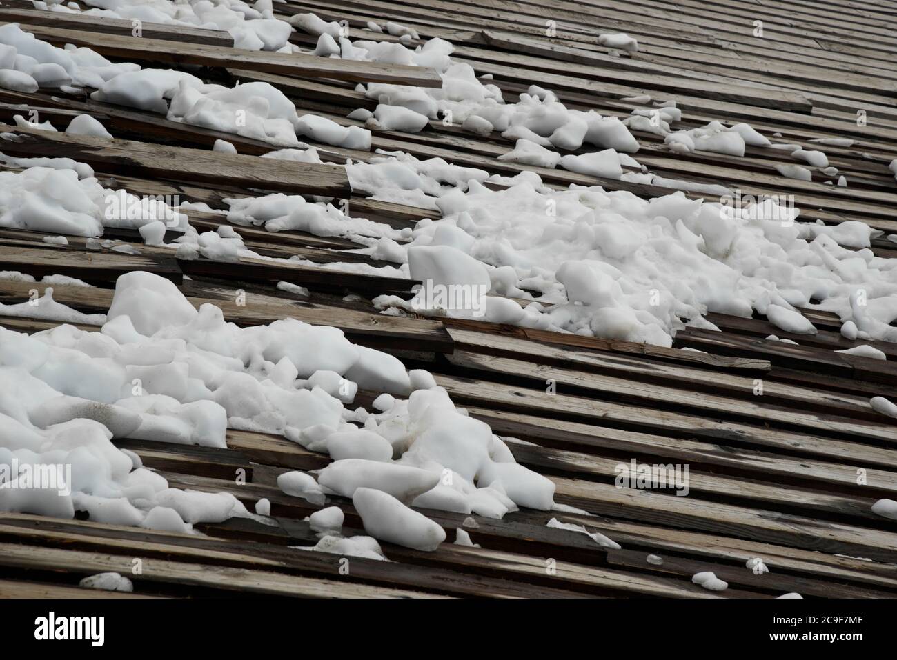
[[[802,221],[856,220],[897,233],[897,187],[888,171],[897,158],[893,0],[290,0],[275,3],[274,11],[284,18],[313,12],[345,19],[352,39],[395,41],[361,30],[368,21],[387,20],[413,27],[422,39],[449,39],[457,47],[453,57],[477,74],[492,74],[508,100],[535,83],[570,108],[625,117],[633,105],[622,99],[648,93],[676,100],[683,110],[676,128],[711,119],[745,121],[807,149],[819,148],[815,138],[852,138],[849,147],[823,147],[848,178],[847,187],[838,187],[818,169],[812,182],[781,177],[775,165],[784,160],[773,150],[749,146],[744,158],[680,155],[668,152],[657,135],[633,133],[638,161],[663,177],[722,183],[744,194],[791,194]],[[762,21],[762,38],[753,36],[755,21]],[[439,84],[435,72],[419,67],[238,51],[212,30],[144,23],[144,39],[129,39],[123,36],[129,22],[42,12],[22,0],[0,0],[0,22],[19,22],[41,39],[142,65],[202,65],[200,75],[208,80],[269,82],[296,103],[300,115],[344,126],[359,125],[345,118],[353,109],[372,108],[353,89],[357,82]],[[546,22],[553,22],[555,36],[546,37]],[[609,54],[597,45],[597,35],[612,31],[636,37],[640,50]],[[292,36],[304,47],[315,40],[302,32]],[[23,107],[37,109],[41,121],[67,123],[89,113],[116,140],[17,128],[13,115]],[[225,197],[257,191],[337,196],[349,199],[353,215],[396,228],[439,217],[353,193],[343,170],[331,165],[262,160],[257,156],[273,149],[267,143],[59,91],[0,90],[0,121],[0,133],[19,136],[7,135],[0,151],[71,157],[89,163],[104,186],[135,194],[180,195],[217,209],[226,208]],[[216,139],[233,143],[240,155],[211,152]],[[316,146],[328,162],[372,155]],[[598,184],[643,197],[671,192],[496,160],[511,147],[498,134],[477,137],[441,122],[414,135],[373,134],[374,149],[438,156],[494,173],[530,169],[554,187]],[[215,213],[188,215],[204,230],[227,224]],[[346,239],[233,229],[265,256],[378,265],[344,252],[360,247]],[[72,588],[78,579],[109,570],[132,577],[138,595],[897,595],[897,528],[870,509],[877,499],[897,499],[897,433],[868,403],[875,395],[897,400],[897,345],[873,343],[887,361],[835,353],[855,343],[840,335],[840,321],[830,314],[806,310],[820,329],[812,337],[783,333],[764,317],[712,314],[709,320],[722,332],[688,328],[667,349],[473,321],[384,316],[370,299],[407,294],[414,282],[257,259],[179,260],[169,248],[144,245],[134,230],[107,230],[103,238],[112,242],[99,249],[76,237],[67,247],[49,245],[42,236],[0,229],[0,270],[67,274],[96,284],[53,287],[56,300],[84,312],[109,308],[118,275],[147,270],[176,282],[197,307],[213,302],[239,325],[295,317],[337,326],[353,342],[429,369],[458,405],[495,433],[526,441],[509,447],[519,463],[553,479],[558,503],[595,515],[524,509],[503,520],[477,517],[479,526],[466,531],[480,549],[443,543],[438,551],[421,552],[384,543],[391,562],[353,559],[346,576],[338,556],[289,547],[317,541],[303,522],[317,507],[283,494],[275,483],[285,471],[327,465],[327,456],[238,430],[229,432],[227,449],[117,440],[172,486],[229,491],[249,508],[269,499],[276,525],[231,519],[198,525],[206,535],[196,537],[0,514],[0,595],[83,595]],[[115,249],[124,245],[137,254]],[[872,249],[897,257],[897,245],[884,238],[875,239]],[[282,280],[308,287],[310,297],[275,289]],[[34,288],[44,285],[0,280],[0,301],[27,300]],[[247,305],[234,302],[236,288],[246,291]],[[347,293],[358,296],[346,299]],[[0,317],[0,325],[36,332],[56,324]],[[799,345],[764,339],[770,334]],[[762,396],[754,395],[758,378]],[[554,395],[546,395],[548,379],[556,383]],[[356,404],[369,405],[371,396],[360,393]],[[614,466],[632,458],[690,465],[691,493],[615,488]],[[245,484],[234,482],[238,469],[246,471]],[[361,530],[351,501],[333,501],[344,509],[347,530]],[[465,518],[423,513],[445,526],[449,542]],[[553,517],[605,534],[622,549],[547,527]],[[649,554],[661,556],[663,564],[649,563]],[[143,575],[131,575],[134,557],[142,558]],[[746,569],[752,557],[762,557],[770,572]],[[556,562],[554,571],[546,571],[548,560]],[[727,591],[693,585],[692,575],[704,570],[726,580]]]

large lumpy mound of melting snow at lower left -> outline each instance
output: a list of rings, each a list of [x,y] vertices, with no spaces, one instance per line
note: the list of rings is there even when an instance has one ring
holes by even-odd
[[[51,300],[50,292],[29,316],[51,310]],[[429,373],[414,370],[412,392],[398,360],[349,343],[335,328],[293,319],[234,326],[220,309],[196,310],[170,281],[143,272],[122,275],[109,314],[86,320],[102,324],[100,332],[64,325],[29,336],[0,329],[0,463],[52,456],[72,465],[71,482],[60,485],[70,494],[4,488],[2,510],[58,517],[81,510],[93,520],[185,534],[196,523],[252,517],[230,494],[169,488],[110,442],[127,437],[226,447],[229,427],[280,433],[331,452],[336,460],[318,480],[300,472],[277,479],[287,495],[318,505],[326,492],[351,498],[371,487],[410,503],[438,484],[431,499],[448,509],[460,500],[467,513],[501,517],[517,509],[514,499],[553,504],[553,485],[513,463],[489,427],[457,412]],[[342,389],[351,378],[380,391],[397,386],[410,399],[379,397],[379,412],[365,412],[359,429],[349,421],[356,412],[323,387]],[[351,400],[352,388],[345,392]],[[409,517],[396,504],[415,529],[427,527],[420,514]],[[393,509],[372,505],[370,533],[429,547],[431,533],[420,541],[390,531],[380,515]],[[257,512],[267,515],[270,508],[260,502]]]

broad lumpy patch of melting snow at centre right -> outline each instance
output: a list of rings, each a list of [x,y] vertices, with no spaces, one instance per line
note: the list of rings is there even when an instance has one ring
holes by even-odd
[[[392,164],[400,162],[414,166]],[[773,317],[802,332],[813,329],[796,307],[854,317],[875,338],[893,336],[878,323],[897,315],[893,262],[839,245],[863,244],[872,235],[867,226],[807,230],[793,222],[796,210],[774,200],[733,208],[679,194],[645,201],[597,187],[546,190],[528,174],[510,183],[496,191],[470,180],[466,194],[443,193],[442,219],[418,223],[401,247],[410,256],[450,235],[453,249],[486,265],[493,286],[501,269],[504,295],[541,291],[547,307],[518,309],[518,325],[670,345],[680,318],[706,310],[750,316],[773,304]],[[866,308],[850,302],[858,287],[874,291]],[[817,297],[821,303],[811,300]],[[411,308],[390,297],[375,304]]]

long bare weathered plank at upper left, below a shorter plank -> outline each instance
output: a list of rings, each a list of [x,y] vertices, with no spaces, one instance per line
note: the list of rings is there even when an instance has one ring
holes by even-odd
[[[0,20],[0,23],[2,22],[4,21]],[[86,46],[100,55],[128,60],[169,65],[250,68],[273,74],[333,78],[357,83],[394,83],[419,87],[439,87],[442,84],[439,74],[422,66],[389,65],[292,53],[268,53],[185,42],[174,46],[170,41],[161,39],[65,30],[42,25],[27,26],[26,31],[51,43]]]

